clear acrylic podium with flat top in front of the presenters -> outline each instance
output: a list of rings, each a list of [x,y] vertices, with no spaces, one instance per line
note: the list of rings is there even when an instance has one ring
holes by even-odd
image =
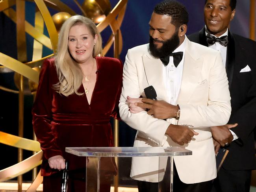
[[[180,147],[82,147],[66,148],[66,152],[86,157],[86,192],[102,191],[119,170],[130,169],[130,164],[121,161],[117,169],[115,158],[119,157],[158,157],[158,191],[172,192],[173,156],[192,155]]]

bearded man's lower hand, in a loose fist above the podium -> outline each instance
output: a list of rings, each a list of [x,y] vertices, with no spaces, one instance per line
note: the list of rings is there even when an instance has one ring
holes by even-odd
[[[178,143],[179,145],[184,145],[188,143],[194,135],[198,135],[193,129],[189,129],[187,126],[169,125],[165,134],[167,134],[171,139]]]

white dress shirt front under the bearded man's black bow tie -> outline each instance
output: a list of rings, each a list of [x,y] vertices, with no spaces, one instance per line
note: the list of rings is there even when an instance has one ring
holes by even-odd
[[[168,103],[171,103],[172,105],[177,105],[176,102],[180,92],[186,44],[187,37],[185,37],[182,44],[173,51],[173,53],[183,52],[182,60],[177,67],[173,64],[173,56],[170,56],[169,64],[167,66],[163,65],[163,82],[165,84]]]

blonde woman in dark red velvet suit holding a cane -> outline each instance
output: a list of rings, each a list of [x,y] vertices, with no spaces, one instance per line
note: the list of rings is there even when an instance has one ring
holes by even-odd
[[[65,168],[65,161],[69,161],[68,190],[85,191],[86,160],[65,153],[65,147],[113,146],[109,119],[118,113],[122,63],[96,57],[101,51],[95,24],[86,17],[72,16],[60,30],[58,54],[42,66],[32,114],[44,153],[44,192],[61,191],[59,170]],[[109,191],[110,185],[102,188]]]

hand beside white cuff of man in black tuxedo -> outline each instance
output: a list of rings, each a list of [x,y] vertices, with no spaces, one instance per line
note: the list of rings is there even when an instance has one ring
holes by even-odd
[[[231,143],[233,135],[229,131],[230,128],[236,127],[238,124],[226,124],[224,126],[211,127],[212,137],[221,145],[225,146],[225,143]]]

